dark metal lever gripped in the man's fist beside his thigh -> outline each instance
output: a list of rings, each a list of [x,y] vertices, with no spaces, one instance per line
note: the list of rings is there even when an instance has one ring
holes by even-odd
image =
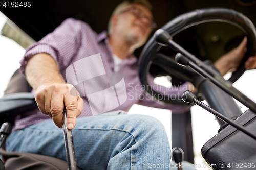
[[[73,142],[72,131],[67,128],[67,110],[63,110],[62,127],[65,140],[65,149],[68,163],[68,170],[77,170],[75,146]]]

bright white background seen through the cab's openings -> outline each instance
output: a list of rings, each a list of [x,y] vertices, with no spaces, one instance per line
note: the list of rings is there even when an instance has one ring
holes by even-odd
[[[7,18],[0,12],[0,30],[2,30]],[[19,46],[13,40],[0,35],[0,98],[4,95],[11,76],[19,68],[19,60],[25,54],[25,49]],[[256,70],[248,70],[245,74],[233,84],[250,99],[256,102]],[[166,78],[157,78],[157,84],[167,86],[169,82]],[[242,111],[247,110],[246,107],[241,106]],[[171,112],[165,109],[156,109],[140,105],[134,105],[129,111],[130,114],[146,114],[159,119],[165,126],[169,140],[171,141]],[[193,122],[193,140],[196,164],[203,164],[203,158],[200,154],[201,148],[205,142],[217,134],[219,125],[214,115],[205,111],[204,109],[193,106],[191,108],[192,122]],[[203,168],[198,168],[203,169]]]

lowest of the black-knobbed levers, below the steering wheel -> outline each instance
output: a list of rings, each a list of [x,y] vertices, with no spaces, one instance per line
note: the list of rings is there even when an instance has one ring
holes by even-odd
[[[199,100],[197,100],[197,97],[196,97],[195,94],[193,94],[193,92],[191,92],[189,90],[186,90],[182,93],[181,98],[186,103],[190,103],[190,104],[194,103],[194,104],[202,107],[203,109],[205,109],[205,110],[209,111],[210,113],[214,114],[217,118],[223,120],[224,122],[230,124],[234,128],[237,128],[240,131],[244,132],[245,134],[249,135],[250,137],[256,139],[256,135],[251,133],[250,131],[248,131],[245,127],[243,127],[240,124],[234,122],[234,120],[232,120],[231,118],[228,118],[228,117],[224,116],[223,114],[221,114],[220,112],[212,109],[211,107],[207,106],[203,102],[200,102]]]

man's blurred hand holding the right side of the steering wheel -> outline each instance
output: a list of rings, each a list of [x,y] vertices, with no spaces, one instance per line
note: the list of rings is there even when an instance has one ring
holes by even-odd
[[[244,37],[243,41],[239,44],[238,47],[234,48],[227,54],[223,55],[220,59],[215,62],[216,68],[224,76],[227,72],[233,72],[240,65],[245,53],[247,51],[247,37]],[[251,56],[245,62],[246,69],[256,68],[256,55]]]

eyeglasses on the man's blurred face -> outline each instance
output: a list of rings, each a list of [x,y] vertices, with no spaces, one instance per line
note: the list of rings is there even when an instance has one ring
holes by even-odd
[[[119,12],[119,14],[129,11],[131,11],[136,18],[143,19],[145,25],[151,30],[154,30],[157,27],[157,24],[150,17],[146,16],[140,9],[136,7],[130,7],[124,11]]]

